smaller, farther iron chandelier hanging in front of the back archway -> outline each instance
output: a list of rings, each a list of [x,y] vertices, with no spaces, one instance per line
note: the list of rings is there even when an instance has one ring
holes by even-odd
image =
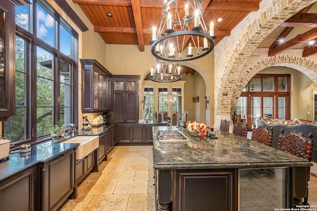
[[[151,68],[151,80],[154,82],[177,82],[180,80],[181,66],[173,61],[162,61],[157,59]]]

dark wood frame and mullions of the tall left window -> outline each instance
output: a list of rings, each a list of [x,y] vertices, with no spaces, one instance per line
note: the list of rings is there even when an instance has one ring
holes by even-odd
[[[37,4],[52,15],[55,26],[54,26],[54,46],[46,43],[37,37]],[[18,145],[24,143],[36,143],[43,140],[51,139],[51,134],[37,135],[37,47],[42,47],[53,54],[53,125],[57,124],[60,119],[60,61],[61,59],[72,64],[72,75],[71,75],[71,116],[72,123],[78,128],[78,33],[57,13],[55,9],[45,0],[33,0],[32,4],[28,4],[29,8],[29,31],[23,29],[19,25],[15,25],[16,36],[30,41],[30,55],[29,55],[29,86],[25,85],[30,95],[30,116],[29,127],[30,127],[30,138],[21,141],[11,141],[11,144]],[[60,51],[60,25],[63,26],[71,34],[71,55],[65,55]],[[31,33],[33,32],[33,33]],[[33,71],[31,71],[33,70]],[[4,123],[5,124],[5,123]],[[28,124],[26,122],[26,124]],[[4,133],[4,130],[2,130]]]

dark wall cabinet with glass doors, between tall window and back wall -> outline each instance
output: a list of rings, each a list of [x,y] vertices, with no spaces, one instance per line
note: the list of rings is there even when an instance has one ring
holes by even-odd
[[[111,110],[112,74],[95,59],[81,59],[82,112]]]

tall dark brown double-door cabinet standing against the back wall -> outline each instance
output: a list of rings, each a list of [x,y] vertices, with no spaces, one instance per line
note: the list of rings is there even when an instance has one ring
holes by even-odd
[[[112,123],[137,123],[139,120],[140,76],[113,76]]]

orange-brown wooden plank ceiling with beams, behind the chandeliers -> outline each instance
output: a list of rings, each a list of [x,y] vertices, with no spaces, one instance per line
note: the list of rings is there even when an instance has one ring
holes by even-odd
[[[159,27],[163,0],[72,0],[77,3],[107,44],[136,44],[140,51],[151,45],[152,28]],[[215,45],[230,36],[237,24],[250,12],[260,8],[262,0],[203,0],[205,22],[214,23]],[[178,0],[183,5],[185,0]],[[314,3],[286,20],[260,47],[269,47],[269,56],[287,49],[303,48],[303,56],[317,53],[315,45],[308,42],[317,39],[317,5]],[[112,16],[108,17],[110,13]],[[217,22],[222,18],[221,22]],[[298,28],[303,33],[294,33]],[[290,35],[294,35],[289,38]],[[272,37],[273,36],[273,37]],[[279,42],[288,37],[287,42]],[[285,39],[286,40],[286,39]],[[192,72],[190,72],[192,74]]]

